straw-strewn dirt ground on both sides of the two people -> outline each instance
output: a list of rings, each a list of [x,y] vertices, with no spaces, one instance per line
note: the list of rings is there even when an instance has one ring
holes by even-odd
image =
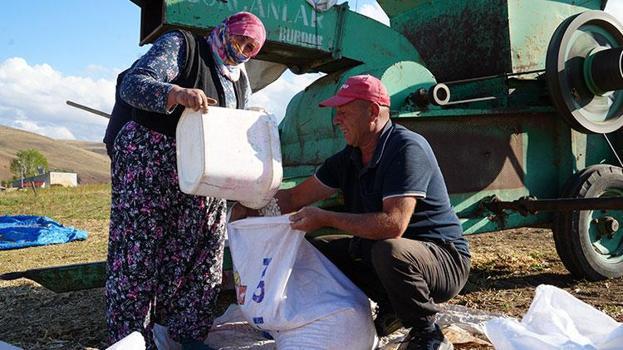
[[[535,287],[550,284],[623,322],[623,279],[574,280],[556,255],[549,229],[522,228],[468,239],[471,276],[451,303],[521,318]],[[103,294],[102,289],[54,294],[26,280],[0,282],[0,340],[25,349],[106,348]],[[231,293],[222,299],[223,307],[233,300]]]

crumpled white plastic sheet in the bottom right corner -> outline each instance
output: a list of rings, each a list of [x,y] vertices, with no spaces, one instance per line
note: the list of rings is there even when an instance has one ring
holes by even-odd
[[[521,322],[495,318],[485,333],[498,350],[623,349],[623,324],[548,285],[536,288]]]

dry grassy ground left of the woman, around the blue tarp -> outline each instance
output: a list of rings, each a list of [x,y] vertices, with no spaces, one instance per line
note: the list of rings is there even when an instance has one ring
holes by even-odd
[[[85,241],[0,251],[0,274],[106,260],[110,185],[0,192],[0,215],[45,215],[86,230]],[[106,348],[103,289],[56,294],[0,281],[0,340],[24,349]]]

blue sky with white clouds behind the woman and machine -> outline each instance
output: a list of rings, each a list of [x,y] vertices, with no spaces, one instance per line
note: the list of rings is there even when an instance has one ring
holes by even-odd
[[[338,3],[345,2],[344,0]],[[116,75],[140,57],[140,9],[130,0],[5,1],[0,11],[0,124],[55,139],[101,141],[107,119],[66,100],[110,113]],[[376,1],[352,10],[385,24]],[[623,21],[623,0],[606,10]],[[290,72],[252,96],[279,119],[294,94],[318,75]]]

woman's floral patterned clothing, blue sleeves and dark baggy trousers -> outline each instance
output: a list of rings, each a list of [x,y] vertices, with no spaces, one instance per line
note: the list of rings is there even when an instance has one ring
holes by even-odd
[[[183,35],[164,34],[128,72],[121,97],[135,108],[167,113],[170,82],[183,70],[185,55]],[[227,107],[235,108],[232,82],[219,80]],[[204,339],[220,291],[225,200],[182,193],[175,138],[135,122],[115,139],[111,173],[110,341],[140,331],[147,348],[155,349],[154,323],[177,341]]]

